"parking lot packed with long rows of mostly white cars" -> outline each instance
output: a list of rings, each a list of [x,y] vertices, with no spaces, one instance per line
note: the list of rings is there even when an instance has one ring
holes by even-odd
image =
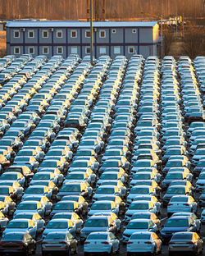
[[[203,254],[205,57],[6,56],[0,83],[0,254]]]

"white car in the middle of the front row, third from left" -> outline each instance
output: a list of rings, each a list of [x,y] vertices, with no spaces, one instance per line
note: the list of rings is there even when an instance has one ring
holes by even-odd
[[[93,253],[116,254],[120,241],[112,232],[92,232],[84,241],[84,256]]]

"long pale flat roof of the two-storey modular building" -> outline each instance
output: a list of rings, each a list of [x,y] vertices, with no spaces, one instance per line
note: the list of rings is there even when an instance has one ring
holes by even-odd
[[[93,22],[93,27],[153,27],[157,21],[98,21]],[[8,21],[7,28],[48,28],[48,27],[85,27],[89,28],[89,22],[81,21]]]

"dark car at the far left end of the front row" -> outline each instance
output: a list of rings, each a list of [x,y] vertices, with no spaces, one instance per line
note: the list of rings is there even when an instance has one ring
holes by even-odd
[[[2,236],[0,254],[34,254],[36,242],[28,232],[13,231]]]

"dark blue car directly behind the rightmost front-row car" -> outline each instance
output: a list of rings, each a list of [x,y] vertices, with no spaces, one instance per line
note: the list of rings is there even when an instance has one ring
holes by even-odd
[[[171,236],[175,232],[182,231],[196,232],[197,225],[194,222],[194,219],[189,216],[170,217],[161,231],[163,242],[166,243],[167,241],[171,240]]]

